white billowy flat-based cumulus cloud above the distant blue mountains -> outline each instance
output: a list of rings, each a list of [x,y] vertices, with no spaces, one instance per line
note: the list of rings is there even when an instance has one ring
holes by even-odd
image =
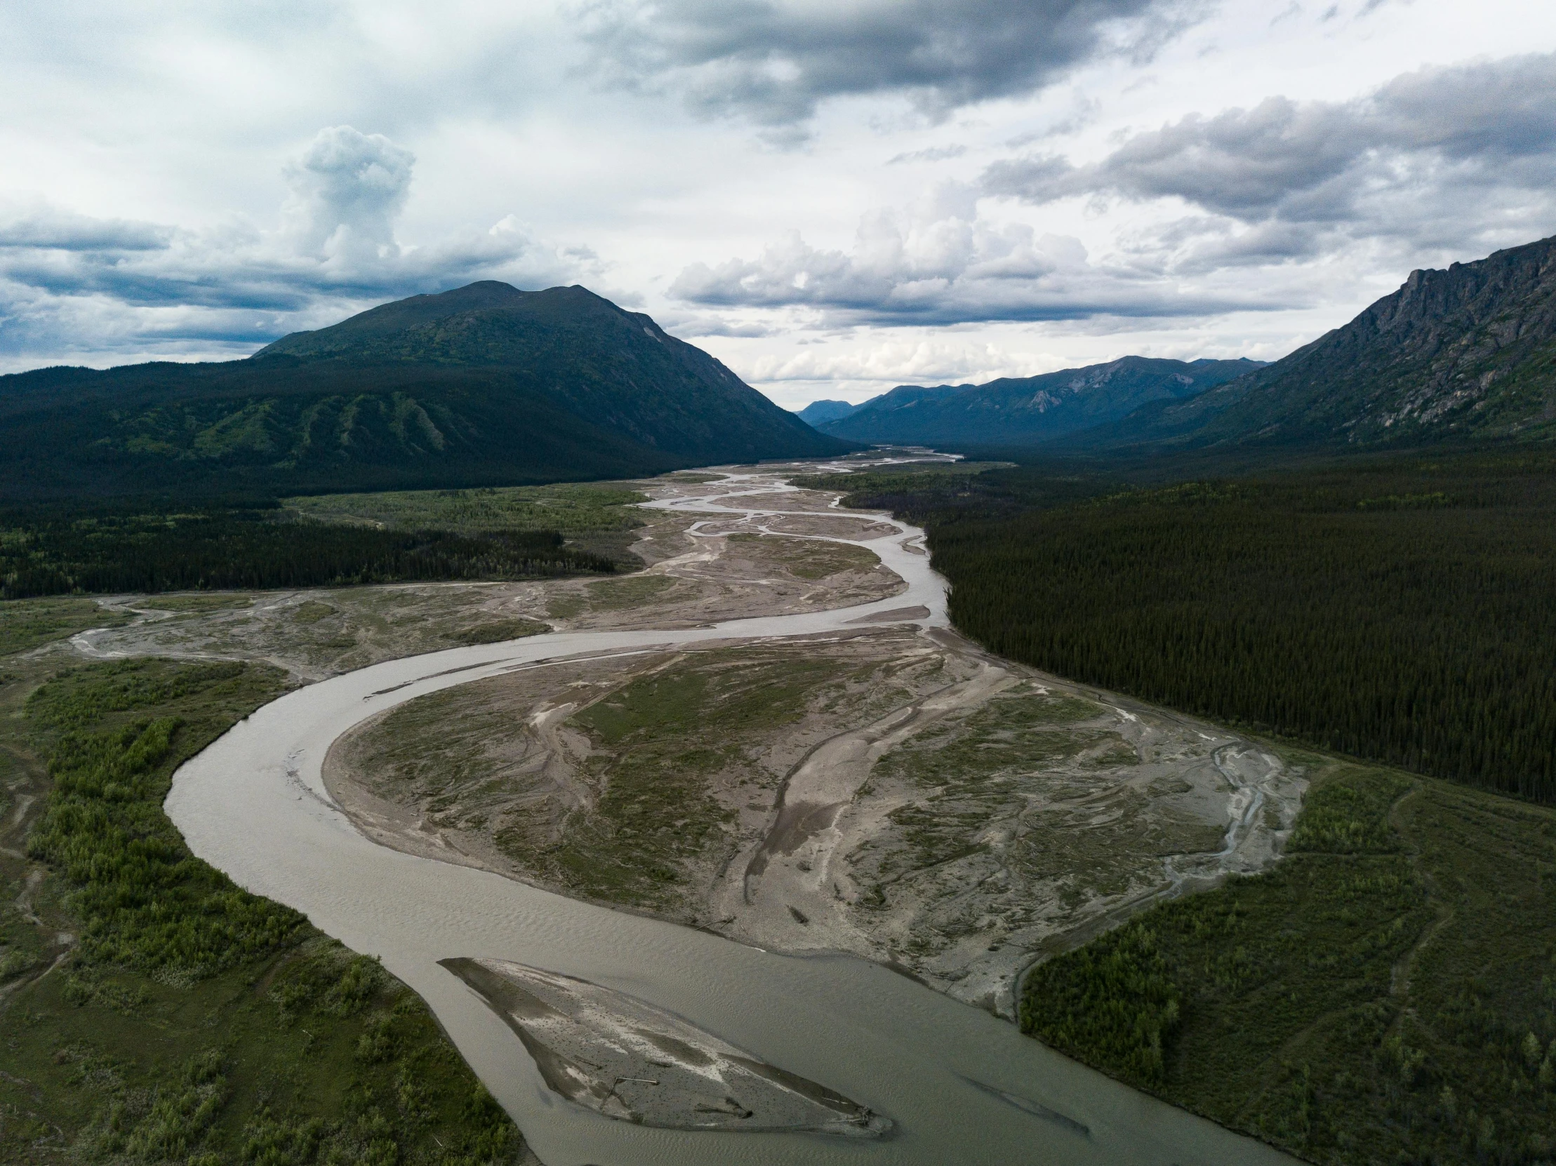
[[[669,294],[706,308],[817,309],[832,325],[1200,316],[1268,306],[1259,294],[1187,294],[1161,278],[1095,264],[1078,239],[979,215],[972,191],[943,183],[904,215],[864,216],[851,250],[798,232],[756,260],[685,267]]]

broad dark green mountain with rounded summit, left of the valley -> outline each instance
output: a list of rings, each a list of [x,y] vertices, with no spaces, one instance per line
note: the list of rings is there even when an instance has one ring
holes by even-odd
[[[412,295],[244,361],[0,376],[0,499],[632,477],[851,448],[584,288]]]

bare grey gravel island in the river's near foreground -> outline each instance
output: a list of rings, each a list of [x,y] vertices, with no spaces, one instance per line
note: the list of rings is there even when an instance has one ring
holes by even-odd
[[[840,1093],[622,992],[501,959],[439,962],[518,1034],[554,1093],[607,1118],[854,1136],[892,1127]]]

